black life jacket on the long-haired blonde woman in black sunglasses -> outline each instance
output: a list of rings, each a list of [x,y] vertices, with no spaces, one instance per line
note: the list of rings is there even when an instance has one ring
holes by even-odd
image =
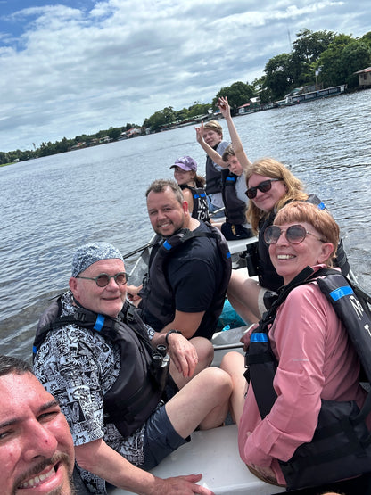
[[[325,203],[322,202],[315,194],[309,194],[306,202],[311,202],[316,204],[320,210],[326,210]],[[259,277],[259,284],[265,287],[269,291],[276,291],[279,287],[284,284],[284,278],[277,274],[275,267],[270,260],[268,245],[264,242],[264,232],[268,227],[273,225],[276,218],[276,211],[270,212],[266,219],[260,221],[259,226],[259,238],[258,238],[258,267],[257,273]],[[342,244],[342,239],[337,247],[336,260],[334,260],[334,265],[342,270],[344,276],[348,276],[350,272],[350,266],[348,262],[347,255],[344,251]]]

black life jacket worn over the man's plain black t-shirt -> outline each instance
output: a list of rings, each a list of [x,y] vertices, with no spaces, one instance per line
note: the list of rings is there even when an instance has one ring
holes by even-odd
[[[212,301],[210,313],[215,313],[215,326],[218,316],[223,308],[227,286],[232,270],[231,253],[229,252],[227,241],[220,235],[218,228],[205,222],[208,231],[181,229],[176,234],[171,235],[160,245],[156,245],[151,252],[149,263],[149,274],[144,277],[143,289],[140,292],[142,301],[139,304],[139,311],[144,321],[157,331],[168,325],[175,316],[175,297],[167,278],[167,263],[172,253],[179,247],[192,241],[195,237],[210,237],[215,239],[222,264],[223,274],[220,277],[221,283]],[[208,310],[209,312],[209,310]],[[201,323],[202,325],[202,323]],[[215,328],[208,329],[209,334],[202,333],[202,336],[211,338]],[[198,336],[198,330],[194,336]]]

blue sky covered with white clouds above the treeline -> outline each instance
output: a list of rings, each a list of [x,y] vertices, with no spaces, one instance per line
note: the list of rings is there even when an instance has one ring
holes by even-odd
[[[0,0],[0,151],[211,103],[301,29],[362,37],[369,0]]]

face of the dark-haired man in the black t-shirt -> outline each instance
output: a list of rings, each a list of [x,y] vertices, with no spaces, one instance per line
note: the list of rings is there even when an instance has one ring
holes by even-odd
[[[162,237],[169,237],[185,227],[188,205],[186,202],[180,204],[169,187],[163,193],[151,191],[148,194],[147,210],[154,232]]]

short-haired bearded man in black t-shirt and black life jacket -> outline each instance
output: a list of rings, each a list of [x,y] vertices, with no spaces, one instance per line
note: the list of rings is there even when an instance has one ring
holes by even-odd
[[[230,260],[223,259],[217,239],[210,233],[224,238],[191,217],[174,181],[154,181],[146,197],[153,230],[165,242],[153,249],[144,286],[128,286],[129,297],[144,322],[157,332],[176,330],[192,339],[202,367],[208,366],[213,351],[205,338],[215,332],[231,273]],[[172,250],[177,237],[190,232],[191,238]]]

